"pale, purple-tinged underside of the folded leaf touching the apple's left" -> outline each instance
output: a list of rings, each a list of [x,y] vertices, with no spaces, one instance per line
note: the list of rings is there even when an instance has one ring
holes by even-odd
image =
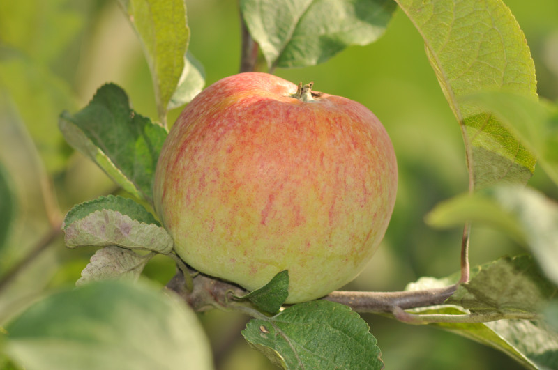
[[[118,245],[168,254],[173,247],[172,238],[163,227],[138,222],[116,210],[96,210],[66,225],[64,233],[70,248]]]

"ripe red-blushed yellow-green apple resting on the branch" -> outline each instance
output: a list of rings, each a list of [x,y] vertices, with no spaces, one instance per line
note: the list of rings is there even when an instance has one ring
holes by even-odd
[[[183,261],[248,291],[288,270],[287,303],[327,295],[363,270],[398,178],[370,110],[326,93],[304,102],[296,91],[257,72],[212,84],[170,130],[153,185]]]

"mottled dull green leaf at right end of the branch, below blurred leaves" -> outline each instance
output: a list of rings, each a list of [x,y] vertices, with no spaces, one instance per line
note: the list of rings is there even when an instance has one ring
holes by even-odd
[[[469,282],[446,300],[470,311],[525,311],[537,314],[558,293],[531,256],[499,259],[481,266]]]

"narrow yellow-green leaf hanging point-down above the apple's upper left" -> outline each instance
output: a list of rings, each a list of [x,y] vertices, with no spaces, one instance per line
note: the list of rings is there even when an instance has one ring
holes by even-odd
[[[120,0],[134,26],[151,70],[159,118],[165,123],[169,101],[179,85],[190,29],[184,0]]]

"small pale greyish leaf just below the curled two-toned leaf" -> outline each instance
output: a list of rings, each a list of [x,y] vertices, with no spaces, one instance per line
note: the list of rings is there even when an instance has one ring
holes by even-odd
[[[82,277],[75,285],[80,286],[104,279],[126,279],[137,282],[145,265],[154,255],[150,253],[140,256],[130,249],[114,245],[104,247],[91,256],[91,261],[86,265]]]

